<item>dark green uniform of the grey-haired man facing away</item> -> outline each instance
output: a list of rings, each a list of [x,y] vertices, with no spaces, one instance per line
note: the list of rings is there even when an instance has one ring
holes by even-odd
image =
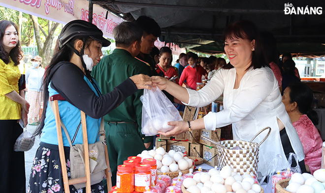
[[[114,87],[136,74],[149,75],[149,66],[134,58],[124,49],[115,49],[105,56],[92,70],[102,94],[111,92]],[[153,141],[141,133],[142,102],[138,90],[127,97],[120,106],[104,116],[109,163],[112,170],[112,185],[116,184],[117,166],[130,156],[136,156],[145,150],[143,143]],[[121,123],[124,122],[124,123]],[[148,149],[152,149],[153,143]],[[110,190],[109,190],[110,191]]]

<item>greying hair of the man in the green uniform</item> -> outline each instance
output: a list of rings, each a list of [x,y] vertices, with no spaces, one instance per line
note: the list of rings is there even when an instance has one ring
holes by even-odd
[[[142,30],[132,22],[122,22],[113,30],[116,46],[129,47],[134,41],[141,41]]]

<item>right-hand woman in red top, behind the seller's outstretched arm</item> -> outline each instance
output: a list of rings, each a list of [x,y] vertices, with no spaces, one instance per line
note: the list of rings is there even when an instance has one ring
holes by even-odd
[[[179,85],[186,86],[186,88],[196,90],[196,83],[201,83],[202,75],[205,75],[207,72],[206,70],[197,62],[197,55],[193,52],[188,52],[188,63],[189,65],[183,70],[181,78],[179,80]],[[186,83],[184,82],[186,80]]]

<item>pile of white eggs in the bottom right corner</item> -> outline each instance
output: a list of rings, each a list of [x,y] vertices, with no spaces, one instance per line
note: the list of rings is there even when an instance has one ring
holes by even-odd
[[[318,169],[314,175],[294,173],[286,188],[291,193],[325,193],[325,169]]]

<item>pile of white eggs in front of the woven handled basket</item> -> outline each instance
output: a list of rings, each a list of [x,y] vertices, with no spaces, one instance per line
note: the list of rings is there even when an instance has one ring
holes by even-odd
[[[183,186],[190,193],[260,193],[261,187],[250,174],[238,175],[226,165],[221,171],[213,168],[209,172],[195,173],[186,178]]]

